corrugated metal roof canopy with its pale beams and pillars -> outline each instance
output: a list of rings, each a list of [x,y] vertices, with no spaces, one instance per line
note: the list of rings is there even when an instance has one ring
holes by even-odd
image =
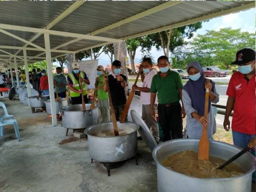
[[[14,64],[16,79],[17,64],[24,64],[29,79],[28,63],[46,58],[55,126],[51,58],[253,7],[254,1],[0,1],[0,64]]]

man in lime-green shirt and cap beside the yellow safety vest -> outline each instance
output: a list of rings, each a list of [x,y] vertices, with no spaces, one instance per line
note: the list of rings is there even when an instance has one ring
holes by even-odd
[[[99,101],[99,110],[102,115],[102,122],[109,122],[109,102],[108,102],[108,92],[104,91],[105,85],[105,74],[104,67],[99,65],[97,67],[97,75],[95,81],[95,91],[97,90],[98,101]]]

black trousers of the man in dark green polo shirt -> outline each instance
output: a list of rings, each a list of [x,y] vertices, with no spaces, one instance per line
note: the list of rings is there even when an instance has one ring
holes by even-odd
[[[163,142],[183,138],[180,103],[171,103],[169,106],[158,104],[159,123],[163,130]]]

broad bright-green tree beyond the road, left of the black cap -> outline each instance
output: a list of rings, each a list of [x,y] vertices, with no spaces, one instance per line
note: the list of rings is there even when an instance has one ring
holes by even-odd
[[[241,32],[241,29],[224,28],[207,31],[204,35],[198,35],[187,46],[177,47],[174,57],[179,64],[199,61],[202,66],[215,65],[229,69],[236,52],[243,48],[255,49],[255,34]]]

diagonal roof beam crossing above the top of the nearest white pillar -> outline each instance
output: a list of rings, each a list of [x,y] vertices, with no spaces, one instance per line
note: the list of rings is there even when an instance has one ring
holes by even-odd
[[[50,29],[52,28],[55,24],[60,22],[62,19],[67,17],[67,15],[70,15],[73,11],[75,11],[77,8],[79,8],[82,4],[85,3],[87,0],[77,0],[75,1],[71,6],[69,6],[64,12],[61,13],[58,17],[56,17],[52,22],[50,22],[45,29]],[[37,38],[39,38],[42,34],[38,33],[36,34],[29,42],[35,41]],[[29,44],[25,44],[24,47],[27,47]],[[22,49],[18,50],[15,55],[17,55]]]

